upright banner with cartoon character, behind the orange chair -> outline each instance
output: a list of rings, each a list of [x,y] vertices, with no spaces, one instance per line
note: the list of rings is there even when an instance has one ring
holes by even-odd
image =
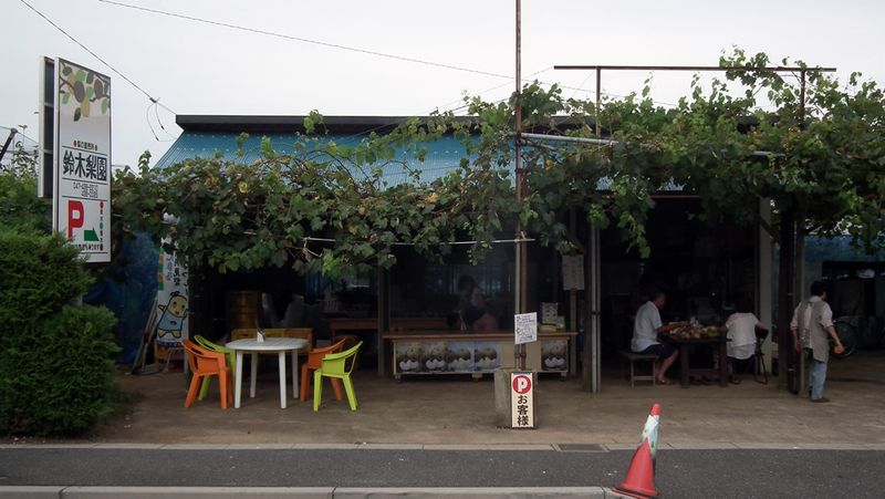
[[[187,268],[175,253],[159,250],[157,267],[157,344],[177,345],[189,337],[187,326]]]

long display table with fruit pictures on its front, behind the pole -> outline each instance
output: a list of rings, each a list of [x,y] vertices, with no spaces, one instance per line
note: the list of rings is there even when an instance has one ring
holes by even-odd
[[[539,333],[525,344],[525,367],[538,373],[575,372],[576,333]],[[393,374],[470,374],[475,380],[498,367],[516,367],[512,331],[392,331],[384,339],[393,344]]]

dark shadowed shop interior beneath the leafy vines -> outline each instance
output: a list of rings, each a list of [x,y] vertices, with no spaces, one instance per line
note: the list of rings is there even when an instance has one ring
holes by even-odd
[[[646,226],[652,248],[648,259],[639,258],[620,230],[601,231],[604,365],[616,366],[617,352],[629,347],[634,311],[655,289],[667,292],[667,305],[662,310],[665,322],[694,318],[702,324],[719,324],[736,299],[756,301],[754,230],[705,221],[699,211],[697,199],[657,199]],[[579,228],[576,236],[586,240],[586,228]],[[529,303],[537,310],[542,302],[558,302],[559,314],[570,318],[570,292],[562,290],[561,258],[552,248],[537,242],[528,246]],[[397,263],[388,273],[391,320],[436,319],[431,323],[437,328],[459,329],[457,314],[452,314],[458,304],[458,281],[470,276],[486,297],[498,329],[512,330],[513,253],[512,243],[494,245],[483,262],[473,266],[468,246],[454,247],[442,261],[428,261],[408,247],[397,248]],[[199,331],[212,331],[215,339],[233,328],[254,328],[258,322],[262,328],[312,328],[314,341],[321,343],[331,337],[330,320],[378,314],[379,274],[374,270],[339,279],[319,273],[299,276],[289,267],[198,274],[191,303],[194,325]],[[242,310],[235,303],[242,293],[258,295],[258,310]],[[577,293],[576,304],[583,310],[583,292]],[[576,316],[577,324],[566,323],[565,328],[583,333],[583,313]],[[377,332],[356,333],[365,342],[361,368],[376,367]],[[579,350],[582,344],[579,334]]]

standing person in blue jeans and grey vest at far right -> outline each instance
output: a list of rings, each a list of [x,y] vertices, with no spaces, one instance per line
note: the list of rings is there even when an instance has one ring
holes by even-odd
[[[829,334],[835,341],[833,351],[836,354],[845,349],[839,341],[836,330],[833,328],[833,311],[826,303],[826,288],[823,282],[815,281],[811,284],[811,298],[804,300],[793,311],[790,321],[790,332],[793,333],[795,351],[811,354],[809,368],[809,384],[811,385],[811,402],[830,402],[823,396],[823,385],[826,381],[826,362],[830,360]]]

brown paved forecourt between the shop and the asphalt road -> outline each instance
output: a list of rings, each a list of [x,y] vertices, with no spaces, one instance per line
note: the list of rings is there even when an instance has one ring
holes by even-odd
[[[658,403],[664,448],[845,448],[885,446],[885,351],[858,352],[831,363],[829,404],[745,377],[740,385],[636,385],[603,380],[601,394],[581,391],[581,382],[544,377],[537,387],[538,429],[494,425],[491,377],[413,377],[403,383],[361,372],[354,382],[360,409],[335,402],[329,386],[314,413],[310,402],[279,406],[277,374],[260,375],[256,398],[222,410],[217,388],[206,401],[183,406],[180,373],[121,375],[136,399],[132,414],[102,425],[87,439],[46,444],[137,444],[157,446],[404,445],[476,448],[493,445],[604,445],[635,449],[652,404]],[[290,393],[291,396],[291,393]],[[7,439],[6,444],[44,440]],[[3,443],[3,441],[0,441]]]

